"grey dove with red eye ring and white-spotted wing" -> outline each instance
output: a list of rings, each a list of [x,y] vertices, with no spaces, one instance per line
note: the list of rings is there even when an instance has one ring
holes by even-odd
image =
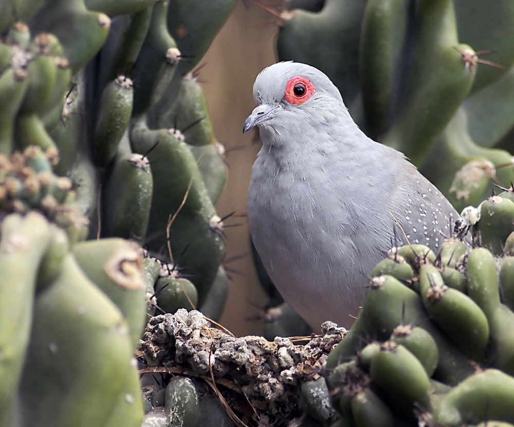
[[[262,140],[247,201],[255,249],[314,331],[350,328],[394,239],[436,250],[459,215],[402,153],[361,131],[317,68],[272,64],[253,96],[243,133],[257,127]]]

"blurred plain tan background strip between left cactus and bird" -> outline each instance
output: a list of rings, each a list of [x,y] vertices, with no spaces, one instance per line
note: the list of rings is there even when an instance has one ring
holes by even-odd
[[[229,176],[224,194],[217,204],[219,216],[235,211],[243,217],[233,218],[226,224],[242,224],[227,228],[226,259],[244,253],[244,258],[227,264],[227,268],[240,271],[230,273],[229,298],[221,322],[236,336],[261,334],[262,322],[248,320],[255,317],[266,302],[260,289],[249,255],[246,194],[251,165],[260,143],[252,144],[254,134],[243,135],[243,123],[255,107],[252,86],[255,77],[265,66],[276,62],[274,17],[248,1],[245,7],[238,0],[231,17],[216,36],[209,51],[200,62],[200,80],[206,93],[214,134],[225,145]],[[267,25],[270,24],[270,25]],[[251,134],[251,135],[249,135]],[[230,151],[231,148],[241,147]]]

